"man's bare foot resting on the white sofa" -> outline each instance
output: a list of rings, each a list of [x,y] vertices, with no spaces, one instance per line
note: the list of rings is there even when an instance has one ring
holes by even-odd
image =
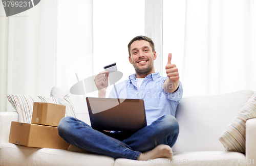
[[[172,157],[173,156],[173,150],[168,145],[158,145],[156,148],[146,151],[144,153],[140,153],[138,160],[149,160],[149,159],[155,159],[160,157]]]

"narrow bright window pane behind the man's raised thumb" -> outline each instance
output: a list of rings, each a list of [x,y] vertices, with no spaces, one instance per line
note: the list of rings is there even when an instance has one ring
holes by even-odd
[[[171,63],[175,64],[182,78],[184,53],[185,0],[163,0],[163,76],[168,53],[172,53]]]

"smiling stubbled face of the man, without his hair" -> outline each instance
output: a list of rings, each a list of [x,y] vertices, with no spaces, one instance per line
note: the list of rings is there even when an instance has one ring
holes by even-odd
[[[131,44],[130,52],[129,61],[133,64],[136,73],[151,73],[157,54],[156,51],[152,51],[150,43],[145,40],[136,40]]]

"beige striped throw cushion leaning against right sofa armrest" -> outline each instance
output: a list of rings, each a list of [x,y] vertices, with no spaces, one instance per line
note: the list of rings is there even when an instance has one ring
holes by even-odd
[[[240,113],[231,121],[220,137],[220,142],[226,151],[245,153],[245,123],[256,117],[256,96],[243,107]]]

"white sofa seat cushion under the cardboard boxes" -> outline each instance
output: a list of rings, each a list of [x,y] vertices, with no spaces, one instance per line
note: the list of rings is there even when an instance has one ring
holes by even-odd
[[[30,148],[11,143],[0,146],[0,165],[98,166],[114,165],[114,162],[114,158],[98,154],[70,152],[60,149]]]

